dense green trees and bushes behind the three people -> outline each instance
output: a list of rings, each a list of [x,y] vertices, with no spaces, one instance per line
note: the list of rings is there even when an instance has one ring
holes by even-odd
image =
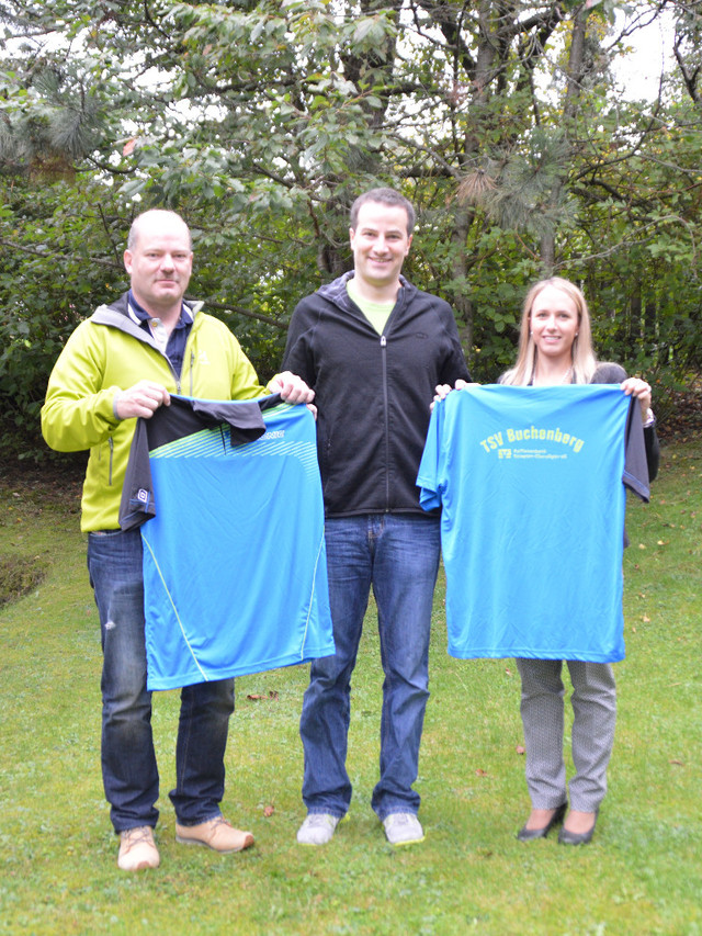
[[[406,273],[451,302],[477,380],[555,272],[665,419],[702,347],[701,10],[636,0],[624,29],[613,0],[0,0],[0,453],[44,453],[50,365],[125,289],[136,212],[184,215],[193,295],[267,377],[375,184],[417,205]],[[614,63],[664,14],[672,67],[636,100]]]

